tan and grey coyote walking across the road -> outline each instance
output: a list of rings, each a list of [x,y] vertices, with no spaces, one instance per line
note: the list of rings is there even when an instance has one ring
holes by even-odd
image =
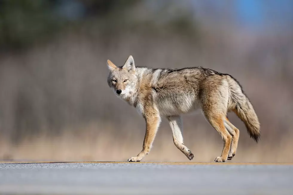
[[[192,160],[193,153],[183,143],[180,115],[196,109],[202,110],[224,142],[222,154],[216,157],[216,162],[231,160],[236,154],[239,130],[228,120],[227,112],[236,113],[256,142],[260,137],[260,122],[255,110],[239,82],[229,74],[203,67],[135,67],[132,56],[121,67],[110,60],[107,65],[109,87],[134,106],[146,122],[143,149],[137,156],[129,158],[129,162],[141,161],[149,153],[161,117],[169,121],[176,147]]]

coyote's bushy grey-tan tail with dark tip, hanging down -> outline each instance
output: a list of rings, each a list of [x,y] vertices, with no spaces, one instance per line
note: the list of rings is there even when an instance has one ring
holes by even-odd
[[[231,89],[231,98],[232,98],[232,110],[236,115],[244,122],[247,132],[251,138],[253,138],[256,142],[260,138],[260,122],[255,113],[255,110],[249,101],[248,97],[242,90],[239,82],[234,79],[230,85]]]

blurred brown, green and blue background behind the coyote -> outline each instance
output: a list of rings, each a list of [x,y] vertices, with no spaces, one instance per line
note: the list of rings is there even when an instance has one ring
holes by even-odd
[[[232,162],[293,162],[293,1],[0,0],[0,159],[126,161],[144,119],[107,85],[123,65],[203,66],[234,76],[261,123],[240,130]],[[222,139],[203,115],[183,117],[195,162]],[[144,161],[188,161],[166,119]]]

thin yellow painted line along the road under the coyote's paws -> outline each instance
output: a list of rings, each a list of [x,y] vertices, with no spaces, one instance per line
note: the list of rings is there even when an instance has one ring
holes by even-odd
[[[38,163],[98,163],[98,164],[121,164],[121,163],[146,163],[146,164],[163,164],[163,165],[293,165],[291,162],[54,162],[54,161],[28,161],[28,162],[14,162],[14,161],[0,161],[0,164],[38,164]]]

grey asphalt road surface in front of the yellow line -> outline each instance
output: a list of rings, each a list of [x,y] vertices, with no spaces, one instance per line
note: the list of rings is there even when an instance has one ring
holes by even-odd
[[[293,194],[293,165],[0,164],[0,194]]]

